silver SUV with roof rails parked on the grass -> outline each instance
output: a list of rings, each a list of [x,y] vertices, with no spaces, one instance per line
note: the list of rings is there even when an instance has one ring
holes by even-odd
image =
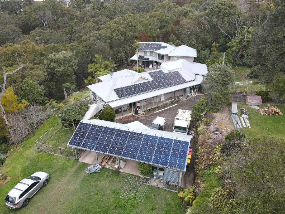
[[[28,205],[30,198],[48,184],[50,176],[45,172],[36,172],[24,178],[13,187],[5,198],[5,204],[11,209],[19,209]]]

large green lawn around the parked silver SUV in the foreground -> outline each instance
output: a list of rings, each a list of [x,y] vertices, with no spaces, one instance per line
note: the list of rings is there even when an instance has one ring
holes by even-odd
[[[0,213],[185,212],[177,193],[150,187],[144,202],[121,199],[125,175],[114,175],[113,170],[108,168],[89,175],[85,172],[89,166],[87,163],[36,151],[34,141],[58,122],[56,116],[46,120],[36,130],[36,135],[28,136],[23,146],[19,145],[0,168],[0,172],[9,177],[9,181],[0,187]],[[64,134],[68,130],[60,131],[54,139],[62,137],[67,140]],[[4,203],[7,193],[21,179],[36,171],[50,174],[48,185],[31,198],[27,207],[17,211],[7,208]]]

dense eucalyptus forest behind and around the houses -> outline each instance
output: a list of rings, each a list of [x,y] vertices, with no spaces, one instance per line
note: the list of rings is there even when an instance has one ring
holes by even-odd
[[[223,53],[233,65],[251,66],[263,82],[284,71],[284,7],[281,0],[77,0],[1,1],[1,69],[19,65],[9,49],[28,63],[7,77],[19,98],[23,87],[62,100],[63,84],[70,92],[84,87],[88,64],[95,55],[117,64],[131,64],[134,39],[188,45],[197,49],[196,62],[208,66]],[[16,50],[17,49],[17,50]],[[25,56],[25,55],[29,56]],[[25,56],[25,57],[24,57]],[[23,85],[24,84],[24,85]],[[27,100],[30,101],[30,100]]]

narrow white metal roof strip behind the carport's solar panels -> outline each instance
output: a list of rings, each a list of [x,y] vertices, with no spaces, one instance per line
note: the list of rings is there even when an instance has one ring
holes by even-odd
[[[98,120],[96,119],[97,121],[105,121],[105,120]],[[118,127],[118,126],[112,126],[112,125],[108,125],[108,124],[103,124],[101,122],[98,122],[96,123],[95,121],[93,122],[94,120],[92,120],[92,122],[90,120],[81,120],[80,122],[84,122],[84,123],[88,123],[88,124],[93,124],[93,125],[100,125],[100,126],[104,126],[104,127],[109,127],[109,128],[115,128],[115,129],[120,129],[120,130],[125,130],[125,131],[129,131],[129,132],[136,132],[136,133],[140,133],[140,134],[148,134],[148,135],[152,135],[152,136],[157,136],[157,137],[162,137],[162,138],[170,138],[170,139],[173,139],[173,140],[183,140],[183,141],[187,141],[187,142],[190,142],[190,140],[192,139],[192,136],[191,136],[191,139],[187,139],[187,138],[179,138],[179,137],[173,137],[173,136],[169,136],[169,135],[162,135],[162,134],[155,134],[155,133],[149,133],[147,131],[137,131],[137,130],[134,130],[134,129],[131,129],[127,126],[125,126],[126,124],[122,124],[122,126],[125,126],[126,128],[124,127]],[[118,124],[118,123],[115,123],[115,122],[110,122],[110,121],[105,121],[107,123],[114,123],[114,124]],[[137,121],[138,123],[141,123],[139,121]],[[142,123],[141,123],[142,124]],[[146,126],[147,127],[147,126]],[[163,131],[163,132],[166,132],[166,131]],[[167,132],[166,132],[167,133]],[[171,132],[169,132],[171,133]]]

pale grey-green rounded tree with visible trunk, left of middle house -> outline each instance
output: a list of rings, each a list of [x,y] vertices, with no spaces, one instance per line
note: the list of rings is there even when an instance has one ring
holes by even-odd
[[[70,83],[75,85],[75,71],[77,59],[70,51],[49,54],[44,60],[46,71],[50,82],[54,82],[55,87],[51,89],[55,98],[62,98],[62,85]]]

